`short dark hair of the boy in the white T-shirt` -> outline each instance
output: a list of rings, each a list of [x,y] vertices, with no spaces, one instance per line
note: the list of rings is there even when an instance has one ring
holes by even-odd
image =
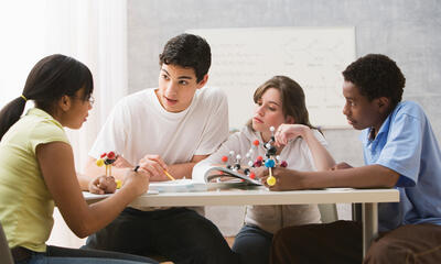
[[[200,82],[212,65],[212,51],[203,37],[184,33],[166,42],[159,55],[159,64],[193,68]]]

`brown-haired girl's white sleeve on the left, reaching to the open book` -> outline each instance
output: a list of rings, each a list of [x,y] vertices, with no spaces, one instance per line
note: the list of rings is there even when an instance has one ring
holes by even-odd
[[[234,151],[235,153],[240,153],[240,132],[232,134],[216,152],[214,152],[207,158],[198,162],[193,167],[193,180],[204,183],[205,173],[215,164],[220,164],[222,157],[227,156],[230,151]]]

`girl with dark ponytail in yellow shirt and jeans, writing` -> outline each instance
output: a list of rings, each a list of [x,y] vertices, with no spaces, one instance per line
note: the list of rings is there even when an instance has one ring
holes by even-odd
[[[15,263],[155,263],[45,244],[54,205],[71,230],[84,238],[106,227],[148,189],[150,173],[128,169],[118,193],[90,206],[84,200],[64,127],[83,125],[93,90],[93,76],[84,64],[51,55],[32,68],[22,94],[0,111],[0,222]],[[22,116],[29,100],[35,107]]]

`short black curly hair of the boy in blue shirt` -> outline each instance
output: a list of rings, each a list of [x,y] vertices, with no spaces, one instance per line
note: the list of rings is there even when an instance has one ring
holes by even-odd
[[[369,101],[386,97],[396,107],[401,101],[406,78],[397,64],[386,55],[368,54],[343,72],[346,81],[358,87]]]

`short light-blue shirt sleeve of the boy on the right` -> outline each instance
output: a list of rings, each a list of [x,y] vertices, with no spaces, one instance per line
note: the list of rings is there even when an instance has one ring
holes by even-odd
[[[420,170],[423,120],[409,114],[398,116],[390,124],[385,146],[375,164],[398,174],[398,187],[412,187]]]

